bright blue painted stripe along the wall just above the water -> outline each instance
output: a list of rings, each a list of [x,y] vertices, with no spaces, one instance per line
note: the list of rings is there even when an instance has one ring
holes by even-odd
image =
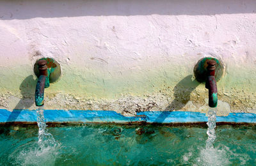
[[[207,117],[200,112],[139,112],[136,117],[125,117],[111,110],[45,110],[47,122],[79,123],[129,123],[147,121],[148,123],[195,123],[206,122]],[[230,113],[218,116],[217,122],[256,123],[256,114]],[[0,109],[0,123],[36,122],[36,110]]]

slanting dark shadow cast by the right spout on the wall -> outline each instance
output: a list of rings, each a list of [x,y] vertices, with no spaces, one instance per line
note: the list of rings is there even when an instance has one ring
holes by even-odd
[[[164,119],[170,115],[173,110],[182,109],[190,100],[190,94],[200,84],[196,80],[192,81],[193,75],[188,75],[174,87],[174,100],[163,112],[156,118],[155,123],[163,123]]]

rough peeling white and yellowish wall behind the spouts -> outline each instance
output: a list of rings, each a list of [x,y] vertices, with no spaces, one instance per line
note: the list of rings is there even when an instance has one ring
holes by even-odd
[[[35,109],[33,65],[61,64],[45,109],[207,111],[198,59],[225,65],[218,114],[256,113],[253,0],[0,1],[0,107]]]

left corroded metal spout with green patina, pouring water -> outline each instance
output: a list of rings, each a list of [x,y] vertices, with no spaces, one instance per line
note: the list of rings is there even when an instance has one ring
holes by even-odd
[[[49,72],[47,71],[47,61],[40,60],[38,61],[38,70],[40,76],[36,83],[36,92],[35,92],[35,103],[36,106],[44,105],[44,88],[49,87]]]

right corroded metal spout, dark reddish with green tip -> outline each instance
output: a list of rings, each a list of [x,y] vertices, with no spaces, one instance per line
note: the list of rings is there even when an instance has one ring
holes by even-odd
[[[209,107],[217,107],[218,103],[218,93],[217,93],[217,84],[215,80],[215,65],[216,61],[210,60],[207,61],[207,78],[205,80],[205,87],[209,89]]]

